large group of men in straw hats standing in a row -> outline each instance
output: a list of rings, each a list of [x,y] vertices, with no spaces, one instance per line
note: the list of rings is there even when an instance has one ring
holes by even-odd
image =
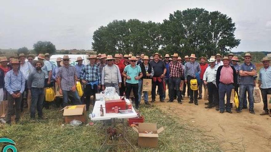
[[[209,59],[199,57],[199,62],[196,61],[195,54],[184,56],[184,60],[178,53],[171,56],[166,54],[164,57],[159,53],[153,54],[152,57],[144,53],[136,56],[119,53],[114,57],[106,54],[97,56],[88,54],[89,64],[83,64],[84,59],[78,57],[76,60],[78,64],[75,66],[70,65],[68,55],[57,58],[57,65],[50,61],[50,57],[48,53],[38,54],[38,60],[34,60],[34,55],[24,54],[10,57],[9,60],[0,57],[0,101],[8,100],[6,123],[11,123],[14,102],[15,123],[19,121],[20,114],[26,106],[30,106],[31,121],[35,121],[36,110],[38,119],[46,119],[42,114],[42,108],[48,109],[50,103],[45,100],[45,88],[54,87],[55,84],[58,84],[59,93],[63,95],[63,99],[59,97],[55,99],[57,107],[67,106],[71,96],[72,104],[85,103],[88,111],[91,104],[90,96],[94,96],[94,104],[96,93],[104,91],[107,87],[114,87],[120,96],[129,99],[133,95],[135,108],[139,109],[142,94],[144,104],[150,104],[148,92],[142,90],[144,79],[152,81],[152,103],[156,101],[156,93],[159,95],[159,101],[165,102],[168,88],[168,102],[174,102],[176,99],[182,104],[187,95],[189,103],[198,105],[199,100],[203,99],[204,89],[208,90],[208,103],[205,103],[207,104],[205,108],[215,107],[220,113],[224,111],[232,113],[233,102],[230,97],[234,89],[239,98],[237,112],[248,108],[248,95],[249,112],[255,114],[253,90],[256,86],[257,71],[256,66],[251,63],[252,56],[249,53],[245,53],[242,64],[238,64],[240,60],[232,53],[224,57],[216,54]],[[263,58],[264,67],[259,71],[259,88],[264,103],[264,112],[260,115],[269,115],[267,107],[267,94],[271,94],[269,61],[269,58]],[[83,87],[82,98],[76,89],[78,81]],[[24,92],[27,96],[29,90],[31,105],[27,105],[23,99]]]

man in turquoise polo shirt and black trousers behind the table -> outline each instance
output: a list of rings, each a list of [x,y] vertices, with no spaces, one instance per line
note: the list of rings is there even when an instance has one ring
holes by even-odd
[[[130,98],[131,90],[135,96],[136,109],[139,108],[138,100],[138,81],[142,78],[143,74],[139,65],[136,65],[136,57],[130,58],[131,64],[127,65],[123,70],[123,76],[126,78],[126,98]]]

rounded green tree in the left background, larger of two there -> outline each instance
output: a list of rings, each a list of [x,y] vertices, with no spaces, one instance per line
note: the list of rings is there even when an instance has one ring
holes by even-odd
[[[37,43],[33,45],[33,48],[37,54],[39,53],[55,54],[55,51],[56,51],[55,45],[51,43],[50,41],[38,41]]]

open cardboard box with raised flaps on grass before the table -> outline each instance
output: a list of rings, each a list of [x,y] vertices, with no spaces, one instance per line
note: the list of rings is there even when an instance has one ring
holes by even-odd
[[[139,123],[138,128],[133,127],[133,130],[138,133],[139,147],[158,147],[158,134],[164,131],[164,127],[157,129],[156,123]],[[145,131],[152,131],[152,134],[144,133]]]

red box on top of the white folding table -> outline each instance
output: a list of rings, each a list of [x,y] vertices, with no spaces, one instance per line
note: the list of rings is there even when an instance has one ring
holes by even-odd
[[[107,100],[105,101],[105,113],[115,113],[115,107],[118,107],[119,110],[126,110],[125,100]]]

